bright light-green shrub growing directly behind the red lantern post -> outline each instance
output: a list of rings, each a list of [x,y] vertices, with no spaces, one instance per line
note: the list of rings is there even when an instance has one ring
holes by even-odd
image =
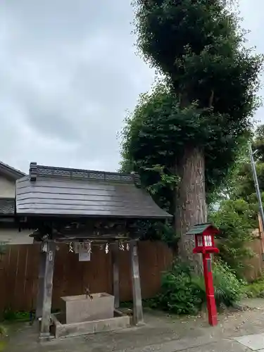
[[[203,277],[192,277],[192,281],[199,288],[200,299],[206,302],[206,287]],[[218,307],[221,304],[232,306],[239,302],[244,294],[245,282],[237,279],[230,267],[221,261],[213,264],[213,286],[215,289],[215,303]]]

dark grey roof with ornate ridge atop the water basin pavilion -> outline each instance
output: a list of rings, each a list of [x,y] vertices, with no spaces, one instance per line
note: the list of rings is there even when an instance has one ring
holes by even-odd
[[[30,164],[16,182],[18,215],[170,218],[139,188],[138,175]]]

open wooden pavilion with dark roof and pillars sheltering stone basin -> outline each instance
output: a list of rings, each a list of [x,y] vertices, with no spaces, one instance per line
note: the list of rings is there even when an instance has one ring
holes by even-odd
[[[137,220],[165,220],[171,215],[159,208],[141,187],[137,174],[30,163],[29,175],[16,181],[15,216],[21,227],[34,230],[31,235],[34,241],[42,243],[36,315],[42,318],[43,336],[49,334],[55,244],[58,241],[113,245],[115,307],[119,306],[119,268],[114,252],[119,241],[128,241],[132,264],[133,319],[135,324],[142,322]]]

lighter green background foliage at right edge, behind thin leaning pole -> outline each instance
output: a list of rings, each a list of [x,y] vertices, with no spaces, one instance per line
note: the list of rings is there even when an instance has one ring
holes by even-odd
[[[251,142],[253,151],[256,151],[254,158],[264,201],[263,125],[256,128]],[[258,201],[247,144],[241,149],[238,162],[232,171],[225,188],[225,196],[229,199],[220,202],[220,208],[212,213],[211,220],[222,230],[220,256],[239,277],[242,277],[246,260],[253,255],[249,249],[251,233],[258,228]]]

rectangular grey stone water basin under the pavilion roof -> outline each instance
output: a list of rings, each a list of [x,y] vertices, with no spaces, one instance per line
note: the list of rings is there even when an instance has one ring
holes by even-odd
[[[85,294],[61,297],[66,324],[113,318],[114,296],[103,292],[92,294],[92,297],[93,299]]]

